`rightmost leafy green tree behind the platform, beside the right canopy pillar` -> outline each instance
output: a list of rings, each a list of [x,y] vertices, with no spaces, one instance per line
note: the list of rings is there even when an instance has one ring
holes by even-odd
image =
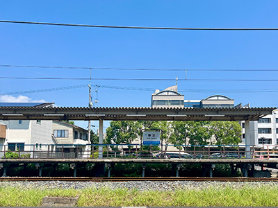
[[[209,125],[213,144],[238,144],[241,137],[241,127],[236,121],[211,121]]]

